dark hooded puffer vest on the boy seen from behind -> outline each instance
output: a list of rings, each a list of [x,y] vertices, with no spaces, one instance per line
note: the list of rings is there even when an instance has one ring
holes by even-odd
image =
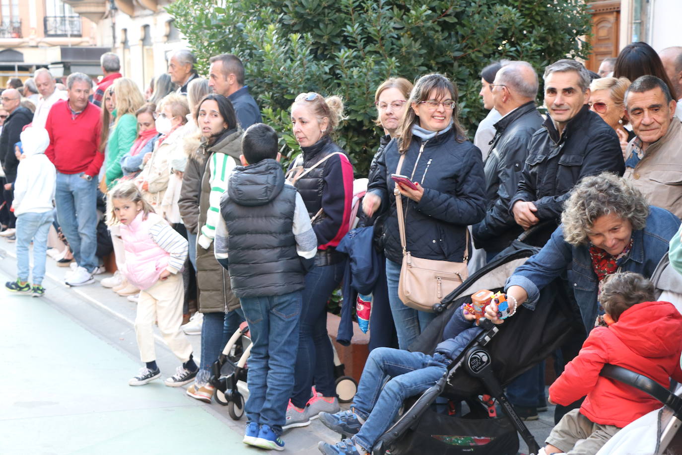
[[[237,297],[282,295],[306,286],[293,234],[295,209],[296,188],[284,184],[276,160],[235,168],[220,198],[220,214]]]

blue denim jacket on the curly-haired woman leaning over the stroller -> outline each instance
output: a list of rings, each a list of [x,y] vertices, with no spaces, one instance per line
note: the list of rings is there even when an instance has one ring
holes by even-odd
[[[634,271],[647,278],[661,258],[668,252],[668,242],[680,226],[680,220],[665,209],[649,207],[647,226],[632,233],[632,250],[621,265],[621,271]],[[592,268],[589,243],[571,246],[563,239],[560,225],[547,244],[537,254],[514,271],[507,279],[505,291],[520,286],[528,293],[524,303],[531,310],[539,299],[539,290],[567,272],[568,284],[573,288],[586,332],[592,329],[597,317],[597,275]]]

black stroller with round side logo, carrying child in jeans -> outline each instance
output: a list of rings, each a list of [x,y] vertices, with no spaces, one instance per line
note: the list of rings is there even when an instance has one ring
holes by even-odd
[[[438,317],[432,321],[411,351],[432,353],[454,311],[479,289],[499,291],[516,267],[539,248],[524,244],[524,233],[514,245],[492,263],[472,274],[464,283],[434,306]],[[509,454],[518,451],[518,435],[537,454],[537,442],[520,420],[503,393],[503,387],[518,375],[548,357],[574,331],[584,332],[578,310],[569,299],[565,282],[554,280],[543,289],[535,310],[518,308],[514,317],[495,326],[481,320],[483,331],[462,351],[446,375],[416,399],[405,402],[404,413],[374,445],[373,454]],[[479,396],[494,398],[505,415],[497,417],[492,403]],[[444,397],[450,403],[466,402],[465,415],[437,413],[432,404]]]

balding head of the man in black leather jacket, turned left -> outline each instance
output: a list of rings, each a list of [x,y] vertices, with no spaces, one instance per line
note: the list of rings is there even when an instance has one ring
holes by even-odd
[[[494,105],[502,115],[535,100],[537,72],[527,61],[508,61],[495,75],[492,90]]]

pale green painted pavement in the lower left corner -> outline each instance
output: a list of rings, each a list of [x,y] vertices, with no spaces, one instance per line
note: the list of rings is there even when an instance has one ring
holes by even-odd
[[[47,299],[0,289],[0,454],[265,453]]]

